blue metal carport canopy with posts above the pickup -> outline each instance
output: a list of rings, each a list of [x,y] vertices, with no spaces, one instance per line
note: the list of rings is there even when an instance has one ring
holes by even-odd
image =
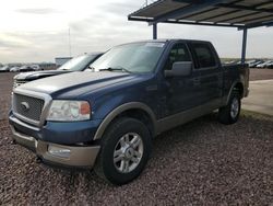
[[[128,15],[153,25],[176,23],[237,27],[244,31],[241,61],[246,59],[248,28],[273,25],[273,0],[158,0]]]

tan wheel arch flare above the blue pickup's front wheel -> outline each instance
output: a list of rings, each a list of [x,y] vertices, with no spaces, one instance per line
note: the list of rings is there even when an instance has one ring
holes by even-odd
[[[106,130],[106,128],[118,117],[128,116],[140,119],[145,124],[153,137],[156,131],[156,117],[154,112],[146,105],[141,102],[130,102],[122,104],[111,111],[102,122],[99,127],[96,130],[94,140],[100,139]]]

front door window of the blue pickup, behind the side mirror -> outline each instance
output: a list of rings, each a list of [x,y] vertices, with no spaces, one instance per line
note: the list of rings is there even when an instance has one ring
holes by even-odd
[[[176,44],[169,52],[165,64],[165,70],[171,70],[173,64],[177,61],[191,61],[190,54],[185,44]]]

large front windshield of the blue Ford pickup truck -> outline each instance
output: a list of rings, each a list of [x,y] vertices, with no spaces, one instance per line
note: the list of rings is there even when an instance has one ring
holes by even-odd
[[[133,43],[111,48],[92,67],[95,71],[152,72],[163,53],[164,43]]]

